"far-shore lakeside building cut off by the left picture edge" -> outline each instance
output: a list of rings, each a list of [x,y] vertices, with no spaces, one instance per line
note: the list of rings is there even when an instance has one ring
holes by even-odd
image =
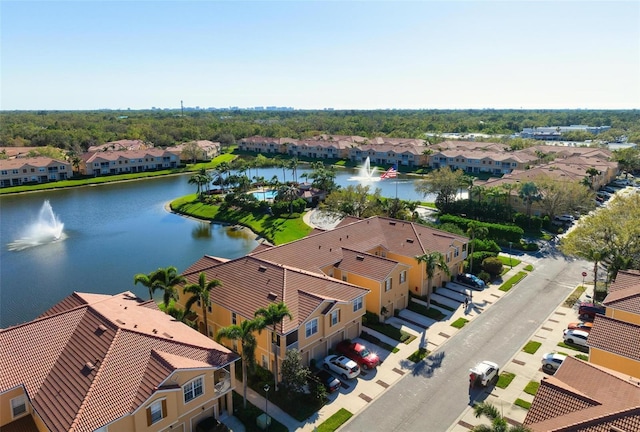
[[[50,157],[0,159],[0,187],[48,183],[72,176],[71,163]]]

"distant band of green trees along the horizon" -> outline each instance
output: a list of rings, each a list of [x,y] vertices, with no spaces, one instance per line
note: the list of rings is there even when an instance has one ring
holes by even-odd
[[[252,135],[302,139],[323,133],[438,141],[445,132],[510,135],[525,127],[572,124],[612,127],[597,136],[581,133],[582,139],[626,136],[640,142],[637,110],[4,111],[0,146],[49,146],[80,154],[120,139],[160,147],[202,139],[225,146]]]

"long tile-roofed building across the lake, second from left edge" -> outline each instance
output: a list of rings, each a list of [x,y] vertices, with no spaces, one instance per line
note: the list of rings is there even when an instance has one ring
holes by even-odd
[[[168,150],[123,150],[84,153],[80,172],[89,176],[177,168],[180,156]]]

